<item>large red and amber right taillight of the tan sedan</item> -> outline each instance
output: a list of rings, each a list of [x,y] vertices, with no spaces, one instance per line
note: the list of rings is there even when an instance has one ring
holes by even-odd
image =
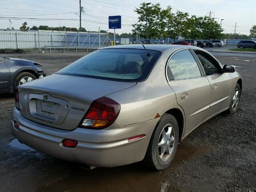
[[[114,123],[120,112],[120,104],[108,97],[94,100],[84,115],[80,126],[103,129]]]

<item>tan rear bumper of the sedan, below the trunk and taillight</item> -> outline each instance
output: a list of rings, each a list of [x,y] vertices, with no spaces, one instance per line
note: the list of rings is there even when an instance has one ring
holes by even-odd
[[[18,130],[14,120],[20,125]],[[20,142],[54,157],[88,166],[115,167],[143,160],[157,122],[158,118],[123,127],[112,124],[104,130],[62,130],[28,120],[14,108],[10,129]],[[139,134],[146,137],[128,142]],[[76,140],[78,145],[67,148],[62,145],[64,139]]]

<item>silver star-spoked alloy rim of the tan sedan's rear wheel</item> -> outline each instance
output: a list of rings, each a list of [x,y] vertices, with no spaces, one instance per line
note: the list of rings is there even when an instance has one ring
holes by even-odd
[[[174,151],[175,130],[172,124],[167,124],[162,129],[158,140],[158,156],[160,160],[167,161]]]

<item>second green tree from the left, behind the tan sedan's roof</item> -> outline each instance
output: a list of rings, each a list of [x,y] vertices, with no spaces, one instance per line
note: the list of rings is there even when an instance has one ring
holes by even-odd
[[[184,31],[188,31],[188,13],[184,13],[181,11],[178,11],[176,13],[172,13],[172,19],[170,20],[170,30],[169,34],[172,39],[175,40],[178,38],[178,36],[184,35]]]

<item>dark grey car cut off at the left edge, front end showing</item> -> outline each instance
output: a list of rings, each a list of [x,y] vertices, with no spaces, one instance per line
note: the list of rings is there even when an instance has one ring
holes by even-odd
[[[13,93],[16,86],[46,76],[39,63],[0,57],[0,93]]]

